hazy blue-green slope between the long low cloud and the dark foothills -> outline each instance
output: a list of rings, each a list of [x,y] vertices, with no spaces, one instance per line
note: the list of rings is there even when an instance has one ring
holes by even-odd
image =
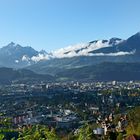
[[[42,61],[37,64],[26,67],[40,74],[55,75],[69,69],[82,68],[85,66],[97,65],[103,62],[112,63],[139,63],[140,56],[81,56],[72,58],[52,59],[49,61]]]

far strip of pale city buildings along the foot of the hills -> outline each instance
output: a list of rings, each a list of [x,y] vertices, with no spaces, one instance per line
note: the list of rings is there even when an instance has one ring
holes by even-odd
[[[28,93],[28,92],[52,92],[55,91],[94,91],[94,90],[107,90],[107,89],[140,89],[140,82],[91,82],[91,83],[79,83],[79,82],[69,82],[69,83],[40,83],[40,84],[11,84],[0,86],[0,89],[5,89],[10,94],[16,93]],[[55,93],[55,92],[54,92]]]

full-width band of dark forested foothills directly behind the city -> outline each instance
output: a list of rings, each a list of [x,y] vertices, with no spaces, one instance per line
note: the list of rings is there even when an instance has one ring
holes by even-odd
[[[64,82],[64,81],[130,81],[140,80],[140,63],[105,62],[79,68],[61,69],[54,76],[36,74],[30,70],[0,68],[0,84]]]

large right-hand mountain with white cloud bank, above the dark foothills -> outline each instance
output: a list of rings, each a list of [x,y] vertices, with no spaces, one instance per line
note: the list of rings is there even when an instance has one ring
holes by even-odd
[[[60,55],[60,56],[59,56]],[[37,73],[55,75],[63,70],[96,65],[103,62],[140,62],[140,33],[127,40],[112,38],[87,44],[70,46],[52,54],[47,61],[40,61],[27,69]]]

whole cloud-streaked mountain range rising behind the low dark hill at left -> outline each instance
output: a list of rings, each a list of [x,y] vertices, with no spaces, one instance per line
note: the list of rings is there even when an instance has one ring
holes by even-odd
[[[136,76],[129,75],[130,78],[126,78],[125,73],[125,76],[122,75],[124,69],[128,74],[139,74],[139,65],[140,32],[126,40],[116,37],[95,40],[51,53],[36,51],[30,46],[22,47],[13,42],[0,48],[0,67],[24,68],[33,73],[49,74],[57,80],[119,80],[113,76],[115,73],[118,77],[121,75],[121,80],[140,80]],[[109,78],[108,72],[111,71],[112,78]]]

